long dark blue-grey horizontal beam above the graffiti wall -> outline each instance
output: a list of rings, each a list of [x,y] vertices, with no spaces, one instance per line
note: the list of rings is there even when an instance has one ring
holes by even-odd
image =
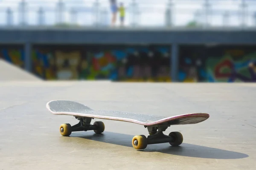
[[[256,44],[256,30],[167,30],[167,29],[0,29],[0,43],[111,44],[111,43],[221,43]]]

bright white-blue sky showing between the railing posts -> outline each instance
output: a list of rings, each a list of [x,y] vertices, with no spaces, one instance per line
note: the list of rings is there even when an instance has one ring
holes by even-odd
[[[76,7],[80,10],[78,12],[77,23],[84,26],[90,26],[96,15],[94,15],[90,11],[86,11],[86,9],[90,9],[93,6],[93,3],[96,0],[63,0],[66,3],[68,11],[65,13],[65,22],[69,23],[74,21],[72,17],[70,17],[70,8]],[[126,7],[126,16],[125,16],[125,25],[130,25],[132,21],[131,15],[131,2],[132,0],[117,0],[118,3],[123,2]],[[166,4],[168,0],[135,0],[138,3],[140,15],[138,15],[135,19],[137,23],[141,26],[164,26],[165,24],[165,10]],[[193,21],[195,19],[195,11],[201,10],[204,12],[204,8],[202,4],[204,0],[172,0],[175,4],[174,14],[173,14],[173,23],[175,26],[183,26]],[[256,0],[250,0],[250,5],[248,6],[248,10],[250,13],[256,11]],[[19,14],[17,12],[18,3],[20,0],[0,0],[0,25],[6,24],[6,8],[10,7],[14,11],[14,24],[18,23]],[[58,0],[26,0],[29,6],[27,11],[27,19],[29,20],[30,25],[36,25],[38,23],[38,8],[40,6],[46,8],[48,11],[46,12],[45,22],[47,25],[54,24],[56,21],[56,15],[54,13],[55,4]],[[101,15],[101,22],[105,22],[110,24],[111,22],[111,12],[109,7],[108,0],[99,0],[100,9],[105,10],[107,14]],[[241,0],[209,0],[212,4],[213,14],[208,17],[208,21],[212,26],[222,26],[223,24],[223,11],[238,11],[240,10],[239,4]],[[230,19],[226,24],[230,26],[239,26],[240,25],[240,17],[235,14],[230,14]],[[205,21],[204,15],[198,19],[201,22]],[[246,18],[246,23],[248,26],[255,25],[254,18],[252,14],[248,15]],[[119,20],[117,22],[119,25]]]

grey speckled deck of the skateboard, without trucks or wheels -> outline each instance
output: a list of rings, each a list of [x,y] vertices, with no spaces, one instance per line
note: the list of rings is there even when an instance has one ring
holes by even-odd
[[[110,119],[144,126],[159,125],[165,122],[168,125],[196,124],[209,118],[207,113],[189,113],[167,117],[123,111],[93,110],[86,105],[68,100],[52,100],[47,103],[47,109],[55,115]]]

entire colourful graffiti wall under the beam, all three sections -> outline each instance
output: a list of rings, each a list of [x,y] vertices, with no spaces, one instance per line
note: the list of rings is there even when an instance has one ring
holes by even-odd
[[[43,79],[171,82],[168,45],[34,45],[32,72]],[[23,45],[0,58],[24,68]],[[256,82],[256,45],[180,45],[180,82]]]

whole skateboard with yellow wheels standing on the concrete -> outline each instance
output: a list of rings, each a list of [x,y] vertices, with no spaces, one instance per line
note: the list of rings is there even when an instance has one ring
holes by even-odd
[[[208,113],[189,113],[177,116],[156,116],[150,114],[129,113],[122,111],[93,110],[86,105],[68,100],[52,100],[47,102],[48,111],[54,115],[71,115],[79,120],[79,123],[71,126],[62,124],[59,128],[62,136],[70,136],[72,132],[93,130],[99,134],[104,132],[105,125],[101,121],[91,124],[91,120],[108,119],[123,122],[131,122],[143,125],[148,129],[149,135],[137,135],[132,139],[132,146],[139,150],[145,149],[148,144],[169,143],[178,146],[183,142],[180,132],[171,132],[165,135],[171,125],[188,125],[203,122],[209,118]]]

